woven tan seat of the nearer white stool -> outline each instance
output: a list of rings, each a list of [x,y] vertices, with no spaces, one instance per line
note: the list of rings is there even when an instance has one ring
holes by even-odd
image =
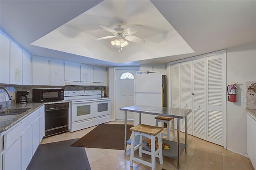
[[[162,130],[164,130],[164,128],[139,124],[139,125],[136,125],[135,127],[131,127],[130,130],[134,131],[134,132],[140,132],[140,133],[145,133],[145,134],[156,136],[158,133],[160,133]]]

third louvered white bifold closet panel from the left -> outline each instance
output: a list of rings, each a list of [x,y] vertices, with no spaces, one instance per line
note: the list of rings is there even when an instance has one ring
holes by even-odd
[[[206,140],[206,58],[193,61],[193,135]]]

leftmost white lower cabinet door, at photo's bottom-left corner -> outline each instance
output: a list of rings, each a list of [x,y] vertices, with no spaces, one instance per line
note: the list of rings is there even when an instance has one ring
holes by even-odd
[[[20,137],[3,154],[3,170],[21,169],[21,139]]]

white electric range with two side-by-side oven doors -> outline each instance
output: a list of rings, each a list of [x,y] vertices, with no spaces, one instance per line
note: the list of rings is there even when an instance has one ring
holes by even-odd
[[[110,98],[100,90],[64,91],[64,100],[71,101],[70,132],[110,122]]]

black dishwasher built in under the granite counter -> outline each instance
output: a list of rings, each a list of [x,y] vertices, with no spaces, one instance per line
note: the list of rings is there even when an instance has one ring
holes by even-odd
[[[45,137],[68,131],[69,103],[45,105]]]

